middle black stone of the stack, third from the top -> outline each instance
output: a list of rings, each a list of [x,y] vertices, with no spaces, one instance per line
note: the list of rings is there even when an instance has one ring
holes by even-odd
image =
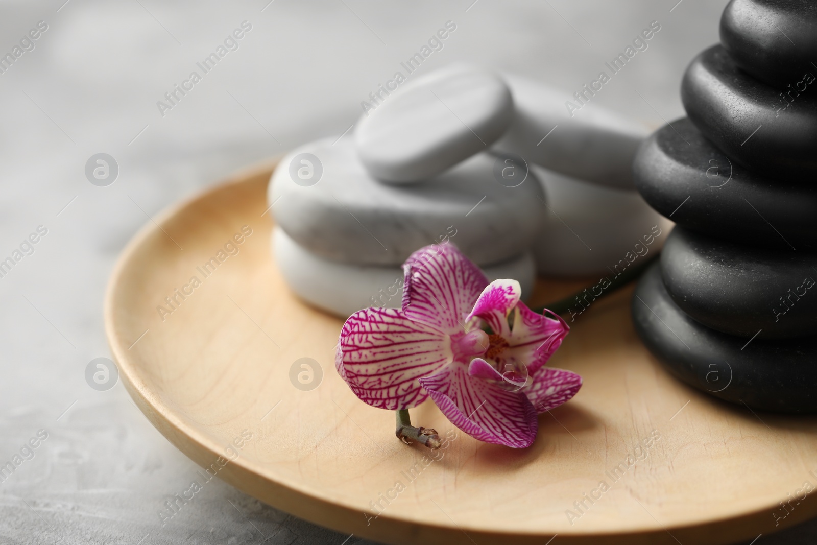
[[[734,242],[817,248],[817,187],[730,161],[687,118],[647,138],[633,174],[647,203],[679,226]]]

